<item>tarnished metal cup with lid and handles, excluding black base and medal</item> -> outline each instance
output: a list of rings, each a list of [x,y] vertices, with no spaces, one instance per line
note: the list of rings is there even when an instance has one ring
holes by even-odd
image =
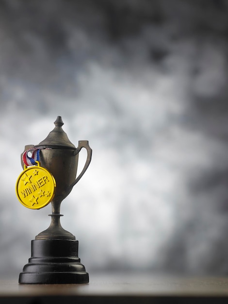
[[[88,168],[92,157],[92,149],[89,147],[88,140],[80,140],[77,148],[72,144],[62,129],[64,123],[61,116],[57,117],[54,124],[55,128],[38,145],[25,146],[25,150],[28,147],[41,149],[40,165],[48,169],[56,181],[55,196],[51,202],[50,226],[47,230],[38,234],[35,239],[75,239],[75,236],[61,226],[60,205]],[[87,150],[87,159],[84,168],[76,178],[79,152],[82,148]]]

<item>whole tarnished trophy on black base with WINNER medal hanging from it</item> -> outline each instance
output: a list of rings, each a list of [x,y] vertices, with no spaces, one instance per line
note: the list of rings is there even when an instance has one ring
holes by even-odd
[[[63,131],[60,116],[55,128],[38,145],[25,146],[22,153],[24,171],[16,182],[16,196],[30,209],[40,209],[51,202],[48,229],[32,240],[31,258],[19,274],[20,284],[88,283],[89,275],[78,257],[79,242],[60,223],[60,205],[88,168],[92,150],[87,140],[76,148]],[[87,150],[87,159],[77,175],[79,152]]]

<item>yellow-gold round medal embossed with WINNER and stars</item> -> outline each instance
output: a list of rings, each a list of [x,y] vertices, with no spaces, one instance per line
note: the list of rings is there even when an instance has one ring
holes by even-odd
[[[54,176],[46,168],[25,166],[16,181],[16,196],[23,206],[40,209],[47,206],[54,197],[56,183]]]

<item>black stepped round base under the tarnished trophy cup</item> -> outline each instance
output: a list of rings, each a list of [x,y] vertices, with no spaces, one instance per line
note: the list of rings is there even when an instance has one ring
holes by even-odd
[[[32,240],[32,256],[19,275],[19,284],[88,283],[78,257],[77,240]]]

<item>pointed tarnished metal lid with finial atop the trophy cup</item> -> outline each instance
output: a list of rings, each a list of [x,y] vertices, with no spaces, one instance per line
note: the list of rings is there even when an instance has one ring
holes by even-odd
[[[35,148],[53,148],[53,149],[76,149],[76,147],[69,141],[68,136],[62,129],[64,124],[62,117],[58,116],[54,122],[55,128],[49,135],[41,141]]]

